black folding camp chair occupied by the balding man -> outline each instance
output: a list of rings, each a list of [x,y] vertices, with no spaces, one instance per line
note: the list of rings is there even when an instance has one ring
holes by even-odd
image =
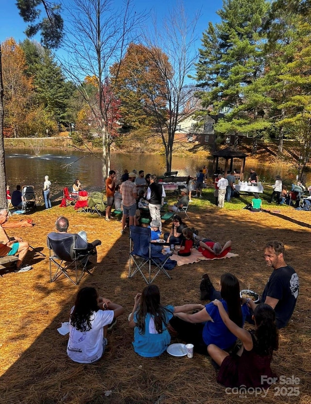
[[[48,236],[47,244],[50,250],[50,281],[54,282],[61,274],[74,284],[78,285],[85,272],[92,275],[86,269],[90,255],[96,254],[96,246],[101,244],[100,240],[93,241],[93,247],[89,249],[75,248],[75,243],[78,235],[70,234],[61,239],[53,239],[52,235]],[[52,263],[56,266],[56,272],[52,274]],[[75,274],[75,279],[69,275],[69,270]],[[78,270],[81,269],[81,274],[78,276]]]

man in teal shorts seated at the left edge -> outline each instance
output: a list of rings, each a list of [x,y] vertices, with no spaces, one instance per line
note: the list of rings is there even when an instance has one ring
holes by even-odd
[[[28,241],[23,241],[21,237],[8,237],[5,230],[2,228],[8,219],[7,209],[0,208],[0,257],[7,255],[17,255],[18,260],[14,272],[27,272],[32,269],[31,265],[22,265],[23,260],[29,250]]]

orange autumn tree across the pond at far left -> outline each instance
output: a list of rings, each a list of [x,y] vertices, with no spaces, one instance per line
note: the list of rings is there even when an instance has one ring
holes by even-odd
[[[25,74],[24,51],[13,38],[2,44],[2,76],[4,88],[4,125],[11,128],[14,137],[23,132],[29,108],[33,84]]]

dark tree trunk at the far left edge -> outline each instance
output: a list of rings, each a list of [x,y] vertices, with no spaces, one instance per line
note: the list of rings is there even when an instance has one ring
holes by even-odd
[[[0,206],[6,207],[6,175],[4,161],[4,142],[3,142],[3,81],[2,81],[2,61],[1,61],[1,43],[0,43]]]

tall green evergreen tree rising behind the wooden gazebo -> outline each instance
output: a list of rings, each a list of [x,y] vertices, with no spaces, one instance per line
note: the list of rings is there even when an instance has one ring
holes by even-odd
[[[256,137],[269,126],[264,110],[269,103],[260,80],[264,69],[262,22],[269,4],[265,0],[224,0],[217,14],[221,23],[209,24],[197,64],[203,106],[214,114],[227,111],[215,125],[220,133],[252,133]]]

